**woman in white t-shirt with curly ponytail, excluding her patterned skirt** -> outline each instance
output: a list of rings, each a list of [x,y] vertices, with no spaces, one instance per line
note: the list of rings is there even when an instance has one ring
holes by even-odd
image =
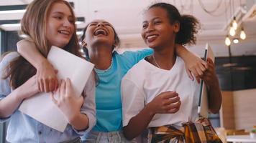
[[[175,43],[195,44],[198,21],[180,16],[175,6],[157,3],[145,11],[142,38],[154,53],[132,67],[122,79],[124,136],[137,137],[147,127],[171,125],[181,129],[183,122],[197,116],[199,84],[186,76],[183,59],[175,54]],[[219,112],[221,92],[214,64],[207,59],[201,76],[209,87],[209,111]],[[149,136],[152,139],[152,134]],[[172,139],[175,139],[175,135]],[[172,142],[169,139],[168,142]],[[161,141],[166,141],[163,137]]]

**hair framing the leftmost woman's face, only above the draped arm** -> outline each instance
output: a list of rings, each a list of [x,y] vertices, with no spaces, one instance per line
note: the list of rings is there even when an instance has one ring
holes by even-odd
[[[49,15],[50,8],[54,3],[63,3],[68,6],[70,12],[73,16],[73,19],[76,19],[75,14],[73,12],[72,7],[68,3],[68,1],[64,0],[34,0],[31,4],[27,6],[27,11],[25,12],[21,24],[22,24],[22,34],[26,34],[29,36],[29,40],[35,42],[37,49],[43,56],[47,56],[48,52],[50,51],[50,45],[46,39],[46,23],[47,17]],[[73,23],[76,27],[76,24]],[[75,30],[76,31],[76,30]],[[78,38],[76,36],[76,32],[73,33],[70,42],[66,45],[64,49],[70,51],[73,54],[78,56],[79,52],[78,49]]]

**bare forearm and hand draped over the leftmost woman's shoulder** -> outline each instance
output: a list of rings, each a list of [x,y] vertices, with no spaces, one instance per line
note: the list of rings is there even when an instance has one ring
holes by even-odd
[[[55,69],[37,50],[32,41],[21,40],[17,43],[17,49],[29,63],[37,69],[37,82],[40,92],[53,92],[58,88],[58,78]]]

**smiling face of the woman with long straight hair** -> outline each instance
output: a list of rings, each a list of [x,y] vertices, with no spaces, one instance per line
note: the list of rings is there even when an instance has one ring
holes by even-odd
[[[63,3],[52,4],[46,21],[46,38],[51,46],[63,48],[75,31],[75,19]]]

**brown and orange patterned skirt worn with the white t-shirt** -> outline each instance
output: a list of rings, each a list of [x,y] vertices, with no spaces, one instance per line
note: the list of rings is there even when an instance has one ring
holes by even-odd
[[[184,123],[183,127],[151,127],[148,139],[151,143],[222,143],[209,119],[202,117]]]

